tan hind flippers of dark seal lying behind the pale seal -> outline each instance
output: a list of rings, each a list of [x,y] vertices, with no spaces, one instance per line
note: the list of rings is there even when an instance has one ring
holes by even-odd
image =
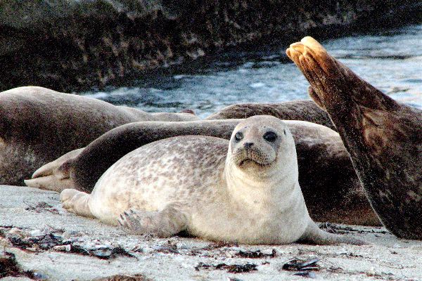
[[[30,180],[25,180],[25,184],[31,188],[52,190],[61,192],[66,188],[75,188],[75,183],[70,178],[70,163],[84,148],[72,150],[59,157],[53,162],[49,162],[32,174]]]

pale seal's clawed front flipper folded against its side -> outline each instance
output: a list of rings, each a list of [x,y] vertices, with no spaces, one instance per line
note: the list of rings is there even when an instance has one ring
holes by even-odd
[[[129,209],[120,214],[117,223],[134,235],[170,237],[186,229],[187,218],[184,212],[179,211],[177,204],[169,204],[162,211]]]

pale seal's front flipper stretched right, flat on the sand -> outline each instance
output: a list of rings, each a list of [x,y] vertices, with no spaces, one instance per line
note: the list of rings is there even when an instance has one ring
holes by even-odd
[[[309,222],[309,226],[305,230],[305,233],[303,233],[302,237],[300,237],[298,242],[316,245],[335,245],[344,243],[362,246],[368,244],[362,240],[347,237],[345,235],[326,233],[325,231],[319,229],[319,227],[316,226],[313,221]]]

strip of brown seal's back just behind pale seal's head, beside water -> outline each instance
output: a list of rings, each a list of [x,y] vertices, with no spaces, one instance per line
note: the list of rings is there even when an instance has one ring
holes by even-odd
[[[292,100],[283,103],[238,103],[224,107],[205,120],[243,119],[255,115],[271,115],[283,120],[302,120],[327,126],[336,131],[327,112],[321,110],[312,100]]]

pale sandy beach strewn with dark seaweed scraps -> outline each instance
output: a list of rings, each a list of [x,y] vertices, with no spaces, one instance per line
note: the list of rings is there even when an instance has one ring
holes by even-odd
[[[158,239],[70,214],[56,192],[1,185],[0,197],[2,280],[422,280],[422,242],[385,228],[321,224],[361,247]]]

